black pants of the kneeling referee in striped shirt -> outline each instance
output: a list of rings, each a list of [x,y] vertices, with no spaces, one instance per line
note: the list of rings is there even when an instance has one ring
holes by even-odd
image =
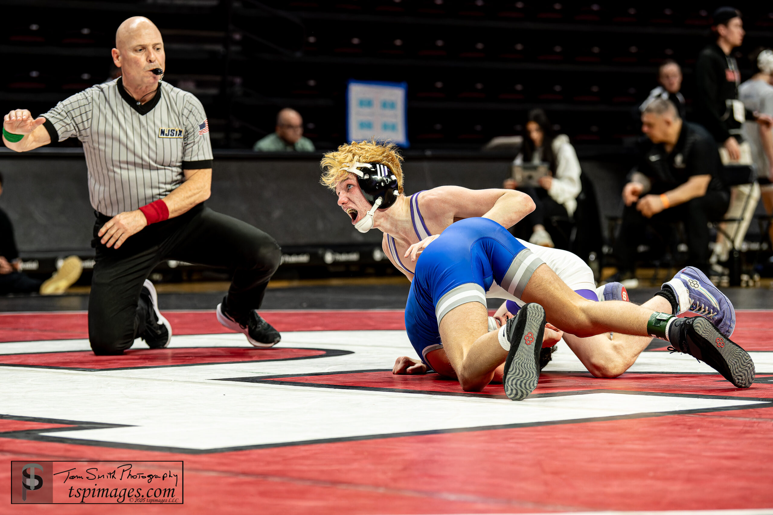
[[[97,249],[89,296],[89,340],[95,354],[121,354],[145,322],[138,305],[142,283],[161,261],[172,259],[233,271],[225,308],[240,319],[263,301],[281,250],[274,238],[249,223],[199,204],[180,217],[153,223],[117,250],[100,244],[97,232],[111,217],[97,216]]]

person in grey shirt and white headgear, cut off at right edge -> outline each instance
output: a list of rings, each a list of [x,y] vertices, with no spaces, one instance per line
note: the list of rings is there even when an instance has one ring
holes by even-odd
[[[773,115],[773,50],[757,49],[750,60],[756,68],[751,79],[738,87],[738,97],[744,107],[760,114]],[[757,165],[761,186],[762,203],[768,214],[773,213],[773,131],[770,126],[746,121],[743,135],[751,148],[751,160]],[[769,228],[769,237],[773,241],[773,227]]]

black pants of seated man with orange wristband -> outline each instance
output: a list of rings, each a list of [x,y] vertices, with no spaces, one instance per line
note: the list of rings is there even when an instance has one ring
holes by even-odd
[[[649,228],[662,241],[669,244],[674,222],[682,221],[687,237],[687,264],[706,272],[709,268],[708,222],[722,220],[730,203],[730,194],[724,191],[707,191],[706,195],[679,204],[645,218],[636,210],[636,204],[623,210],[620,227],[620,244],[616,249],[622,274],[634,271],[636,247]]]

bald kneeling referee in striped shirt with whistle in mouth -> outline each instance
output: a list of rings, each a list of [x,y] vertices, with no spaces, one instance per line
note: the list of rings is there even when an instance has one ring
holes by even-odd
[[[66,138],[83,142],[97,217],[91,348],[98,355],[121,354],[135,338],[151,348],[169,345],[172,329],[146,279],[167,259],[233,270],[217,319],[254,346],[273,346],[280,335],[257,308],[281,251],[263,231],[204,206],[213,155],[201,102],[161,81],[164,44],[149,19],[121,23],[112,53],[122,77],[36,119],[24,109],[11,111],[2,131],[5,146],[16,152]]]

